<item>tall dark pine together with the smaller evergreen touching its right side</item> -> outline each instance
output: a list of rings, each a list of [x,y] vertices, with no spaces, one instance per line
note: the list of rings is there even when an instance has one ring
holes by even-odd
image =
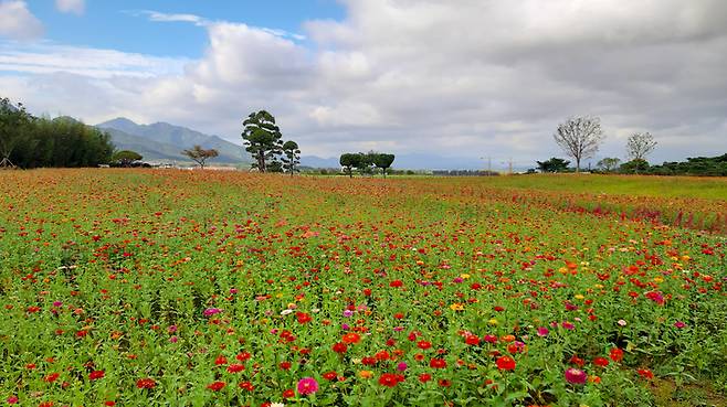
[[[245,151],[253,158],[252,168],[260,172],[299,172],[301,149],[297,142],[283,141],[275,117],[265,110],[253,111],[242,122]]]

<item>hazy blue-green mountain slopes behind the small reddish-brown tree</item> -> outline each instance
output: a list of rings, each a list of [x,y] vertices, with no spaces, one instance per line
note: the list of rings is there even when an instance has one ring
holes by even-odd
[[[137,125],[119,117],[96,125],[108,131],[112,141],[119,150],[134,150],[144,157],[145,161],[189,161],[181,151],[200,144],[206,149],[220,152],[212,163],[249,163],[250,156],[241,146],[225,141],[218,136],[204,135],[186,127],[167,122]]]

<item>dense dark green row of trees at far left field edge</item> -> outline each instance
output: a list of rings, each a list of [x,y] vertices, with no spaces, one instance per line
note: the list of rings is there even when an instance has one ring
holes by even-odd
[[[0,98],[0,167],[97,167],[113,153],[107,132],[69,117],[34,117]]]

